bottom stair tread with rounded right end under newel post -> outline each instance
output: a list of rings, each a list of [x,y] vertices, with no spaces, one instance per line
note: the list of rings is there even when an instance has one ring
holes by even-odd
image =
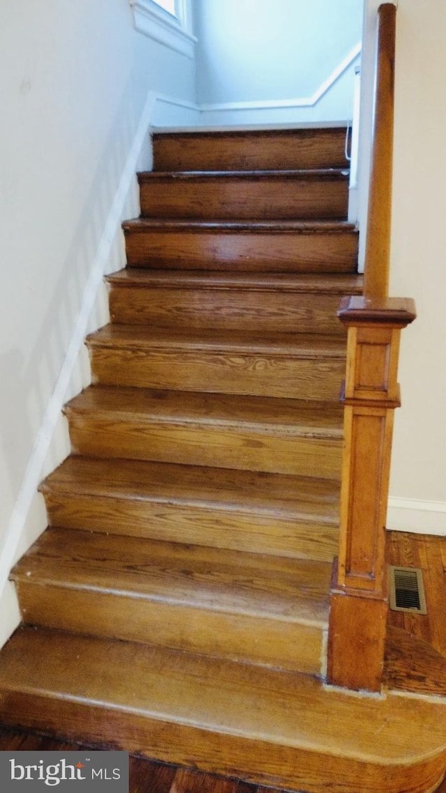
[[[2,651],[0,690],[307,749],[319,762],[409,766],[446,745],[438,700],[349,696],[294,672],[62,631],[17,630]]]

